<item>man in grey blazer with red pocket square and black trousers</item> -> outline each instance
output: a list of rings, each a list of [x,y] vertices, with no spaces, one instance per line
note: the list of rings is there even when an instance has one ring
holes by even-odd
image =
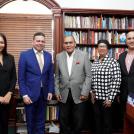
[[[65,51],[56,56],[55,95],[60,102],[60,134],[80,134],[85,101],[91,89],[88,54],[75,50],[73,36],[64,38]]]

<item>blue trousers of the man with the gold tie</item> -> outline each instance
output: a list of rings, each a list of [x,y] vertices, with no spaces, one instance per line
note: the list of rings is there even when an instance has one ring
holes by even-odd
[[[36,102],[25,104],[28,134],[44,134],[47,101],[43,97],[42,90]]]

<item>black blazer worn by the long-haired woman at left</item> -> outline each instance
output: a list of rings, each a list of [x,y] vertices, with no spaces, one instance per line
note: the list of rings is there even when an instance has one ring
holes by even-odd
[[[3,66],[0,63],[0,96],[7,92],[14,92],[16,84],[16,68],[14,57],[10,54],[3,55]]]

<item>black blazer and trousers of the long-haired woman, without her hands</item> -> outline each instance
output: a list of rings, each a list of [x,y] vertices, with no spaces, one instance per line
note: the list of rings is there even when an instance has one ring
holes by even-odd
[[[3,55],[3,66],[0,63],[0,96],[14,92],[16,84],[16,68],[12,55]],[[9,104],[0,103],[0,134],[8,134],[8,119],[12,97]]]

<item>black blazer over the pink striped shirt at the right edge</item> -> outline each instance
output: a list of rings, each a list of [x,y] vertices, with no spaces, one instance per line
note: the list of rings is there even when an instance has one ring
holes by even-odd
[[[127,72],[125,59],[126,59],[127,51],[123,52],[119,56],[119,63],[121,67],[121,86],[120,86],[120,99],[122,101],[127,100],[128,93],[134,94],[134,60],[132,61],[129,73]]]

